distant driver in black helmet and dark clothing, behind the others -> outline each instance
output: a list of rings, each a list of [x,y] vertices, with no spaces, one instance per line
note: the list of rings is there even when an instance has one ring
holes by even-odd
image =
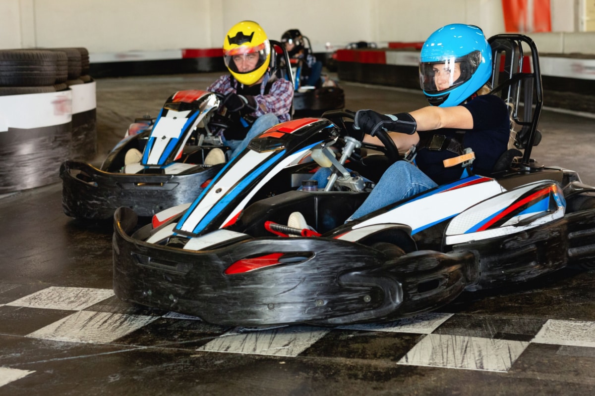
[[[302,61],[300,85],[320,87],[322,62],[317,61],[316,57],[309,52],[304,41],[302,33],[297,29],[287,30],[281,36],[281,43],[285,46],[289,58]]]

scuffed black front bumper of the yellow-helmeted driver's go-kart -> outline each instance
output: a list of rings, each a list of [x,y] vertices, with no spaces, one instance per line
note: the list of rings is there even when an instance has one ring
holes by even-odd
[[[153,216],[192,202],[201,185],[220,168],[197,167],[197,172],[184,175],[131,175],[103,172],[82,161],[64,161],[60,167],[62,208],[76,218],[111,218],[121,206],[133,208],[139,216]],[[81,174],[83,177],[77,177]]]

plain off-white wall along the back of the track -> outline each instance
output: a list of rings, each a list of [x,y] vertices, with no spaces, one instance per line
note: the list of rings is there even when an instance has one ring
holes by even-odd
[[[574,31],[574,9],[585,0],[550,1],[553,26]],[[221,47],[227,30],[246,19],[271,39],[299,28],[317,51],[325,43],[419,42],[448,23],[476,24],[487,36],[504,29],[500,0],[0,0],[0,48],[82,46],[93,54]]]

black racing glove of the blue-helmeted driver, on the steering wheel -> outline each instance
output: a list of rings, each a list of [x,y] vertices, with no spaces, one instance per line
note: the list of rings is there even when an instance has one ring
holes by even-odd
[[[355,113],[354,129],[362,129],[370,136],[374,136],[380,129],[384,131],[413,134],[417,129],[417,122],[409,113],[380,114],[373,110],[358,110]]]

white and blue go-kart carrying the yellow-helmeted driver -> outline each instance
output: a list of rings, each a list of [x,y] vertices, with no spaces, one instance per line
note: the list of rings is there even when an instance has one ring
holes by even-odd
[[[287,52],[274,40],[271,45],[282,55],[271,57],[273,72],[287,74],[289,67],[281,64],[282,60],[289,64]],[[229,150],[216,133],[227,126],[230,116],[220,106],[222,99],[209,91],[177,91],[156,119],[136,119],[100,167],[64,161],[60,167],[64,213],[109,219],[116,208],[125,206],[149,217],[192,202],[223,166],[204,163],[209,151],[215,147],[224,153]],[[131,152],[142,156],[134,159]]]

